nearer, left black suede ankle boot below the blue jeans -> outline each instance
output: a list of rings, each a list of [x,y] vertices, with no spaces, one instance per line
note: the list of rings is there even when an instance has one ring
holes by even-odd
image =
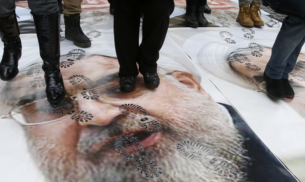
[[[266,91],[274,99],[283,100],[285,99],[285,92],[281,82],[281,79],[269,78],[265,72],[263,79],[266,81]]]

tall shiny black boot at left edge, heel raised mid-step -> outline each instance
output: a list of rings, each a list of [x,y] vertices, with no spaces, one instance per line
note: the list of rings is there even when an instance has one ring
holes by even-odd
[[[19,72],[18,60],[21,57],[21,40],[15,11],[0,17],[0,37],[4,44],[3,56],[0,63],[0,79],[8,81]]]

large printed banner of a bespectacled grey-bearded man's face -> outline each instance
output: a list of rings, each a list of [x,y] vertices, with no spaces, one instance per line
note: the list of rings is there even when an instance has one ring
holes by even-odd
[[[21,35],[19,74],[0,81],[3,181],[298,181],[170,36],[160,86],[147,89],[139,75],[134,91],[120,91],[106,2],[83,1],[91,47],[61,34],[67,95],[58,104],[46,99],[36,35]],[[222,44],[237,41],[227,34]]]

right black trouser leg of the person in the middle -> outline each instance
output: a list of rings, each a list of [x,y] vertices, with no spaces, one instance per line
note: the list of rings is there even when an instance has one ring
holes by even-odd
[[[169,27],[169,16],[173,10],[173,0],[144,0],[142,42],[138,57],[141,73],[157,71],[159,51],[164,43]]]

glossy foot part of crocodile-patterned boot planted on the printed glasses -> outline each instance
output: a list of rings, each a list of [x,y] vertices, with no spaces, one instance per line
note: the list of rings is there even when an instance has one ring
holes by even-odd
[[[63,76],[59,71],[45,71],[46,94],[50,103],[59,103],[66,95]]]

